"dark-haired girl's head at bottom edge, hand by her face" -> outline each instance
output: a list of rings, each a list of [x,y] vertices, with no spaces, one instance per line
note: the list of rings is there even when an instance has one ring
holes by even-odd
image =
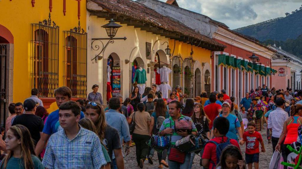
[[[216,169],[246,169],[242,154],[238,147],[230,145],[221,152]]]

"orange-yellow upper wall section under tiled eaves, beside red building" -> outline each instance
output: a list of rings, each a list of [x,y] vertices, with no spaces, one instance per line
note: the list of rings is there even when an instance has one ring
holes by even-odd
[[[174,49],[174,40],[173,39],[169,40],[169,46],[171,48],[171,54],[172,54],[173,49]],[[173,56],[180,55],[180,56],[182,56],[182,60],[184,60],[185,58],[190,56],[190,53],[191,53],[190,44],[180,42],[180,41],[175,41],[175,50],[174,50]],[[193,59],[194,60],[198,60],[200,63],[202,63],[202,62],[210,63],[210,60],[211,60],[210,55],[211,55],[210,50],[196,47],[193,45]]]

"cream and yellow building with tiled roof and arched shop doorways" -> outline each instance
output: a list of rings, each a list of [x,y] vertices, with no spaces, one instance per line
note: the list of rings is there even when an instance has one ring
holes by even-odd
[[[155,69],[163,66],[170,68],[176,73],[169,74],[168,84],[172,88],[175,85],[188,88],[186,89],[190,92],[188,97],[193,97],[194,85],[197,86],[197,93],[203,89],[201,72],[210,70],[211,51],[222,51],[224,48],[223,45],[196,33],[193,29],[131,0],[90,0],[87,2],[87,10],[87,29],[89,28],[87,89],[91,92],[92,85],[99,84],[104,103],[107,100],[107,82],[111,85],[114,82],[109,77],[110,74],[112,76],[112,72],[108,72],[112,69],[107,69],[109,65],[110,68],[119,69],[120,77],[117,82],[120,83],[120,88],[116,91],[122,94],[124,99],[129,97],[133,89],[133,66],[146,70],[146,87],[161,83],[156,82]],[[108,38],[108,35],[101,26],[107,24],[110,19],[122,26],[114,38],[127,37],[127,39],[114,40],[106,46],[108,39],[104,38]],[[100,42],[95,41],[95,38],[103,39]],[[96,45],[101,49],[103,45],[106,48],[103,51],[97,50]],[[167,45],[171,49],[170,55],[165,52]],[[194,52],[192,59],[186,59],[191,56],[191,48]],[[96,57],[98,54],[99,57]],[[178,67],[173,69],[175,65]],[[183,76],[181,73],[183,68],[190,73]],[[200,81],[196,84],[193,79],[195,72]],[[187,76],[188,74],[190,76]],[[187,83],[185,78],[189,79],[189,77],[190,81]],[[112,92],[112,95],[114,94],[116,93]]]

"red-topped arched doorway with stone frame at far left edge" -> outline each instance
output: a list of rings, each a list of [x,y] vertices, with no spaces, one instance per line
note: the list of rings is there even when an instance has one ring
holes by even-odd
[[[13,52],[14,37],[0,25],[0,122],[5,124],[8,116],[8,103],[13,102]]]

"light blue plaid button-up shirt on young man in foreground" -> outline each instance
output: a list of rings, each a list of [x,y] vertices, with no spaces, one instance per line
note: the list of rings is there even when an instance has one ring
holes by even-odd
[[[45,168],[99,169],[107,164],[99,137],[80,127],[75,138],[69,140],[65,130],[50,136],[42,161]]]

